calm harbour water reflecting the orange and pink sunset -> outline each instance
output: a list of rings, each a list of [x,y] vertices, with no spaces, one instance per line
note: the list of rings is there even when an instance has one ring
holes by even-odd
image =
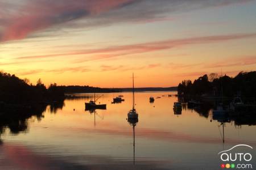
[[[0,169],[220,169],[218,152],[238,144],[256,147],[256,126],[226,122],[222,143],[223,127],[211,111],[199,114],[184,105],[181,114],[174,114],[177,97],[168,94],[175,93],[135,94],[135,147],[133,125],[126,120],[130,93],[122,93],[121,104],[111,104],[121,94],[104,94],[98,101],[107,109],[96,113],[85,111],[89,98],[65,100],[62,108],[48,106],[43,117],[28,118],[23,131],[5,129]],[[255,162],[255,149],[250,152]]]

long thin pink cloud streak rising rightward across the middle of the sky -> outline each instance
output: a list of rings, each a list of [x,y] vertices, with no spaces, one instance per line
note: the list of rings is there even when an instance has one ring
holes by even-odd
[[[186,39],[171,39],[164,41],[146,42],[142,44],[131,44],[131,45],[119,45],[110,46],[106,48],[98,49],[85,49],[77,50],[75,52],[57,53],[39,56],[22,56],[16,59],[38,59],[38,58],[51,58],[51,57],[64,57],[64,56],[76,56],[81,55],[81,59],[77,62],[86,62],[97,59],[113,58],[118,56],[125,56],[130,54],[139,54],[154,52],[158,50],[166,50],[175,48],[177,46],[194,45],[194,44],[209,44],[213,42],[224,42],[229,40],[239,39],[253,39],[256,37],[256,33],[237,33],[231,35],[216,35],[216,36],[204,36],[204,37],[191,37]],[[89,55],[84,56],[84,55]]]

